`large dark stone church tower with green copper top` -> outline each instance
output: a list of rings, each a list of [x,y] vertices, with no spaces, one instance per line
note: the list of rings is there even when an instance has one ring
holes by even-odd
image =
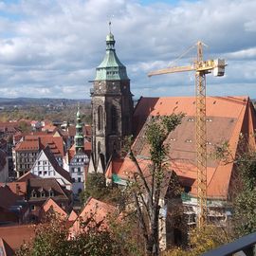
[[[92,96],[92,152],[96,172],[120,155],[122,139],[132,134],[133,100],[126,67],[120,63],[115,39],[106,36],[106,53],[96,68]]]

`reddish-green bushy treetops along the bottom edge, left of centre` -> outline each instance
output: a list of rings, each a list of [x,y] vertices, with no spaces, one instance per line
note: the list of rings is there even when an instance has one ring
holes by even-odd
[[[110,223],[110,222],[109,222]],[[67,223],[55,213],[47,216],[46,221],[39,224],[35,229],[35,237],[31,243],[24,244],[16,252],[17,256],[112,256],[112,255],[134,255],[131,251],[136,251],[136,247],[125,247],[124,240],[129,237],[129,229],[124,228],[122,222],[122,238],[109,227],[102,226],[102,222],[94,219],[94,214],[81,223],[81,232],[74,237],[70,237]],[[132,241],[132,236],[130,237]],[[139,255],[139,254],[137,254]]]

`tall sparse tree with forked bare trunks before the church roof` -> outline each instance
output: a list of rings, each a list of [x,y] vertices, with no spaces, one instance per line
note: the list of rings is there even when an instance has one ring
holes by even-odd
[[[157,116],[149,121],[145,134],[146,142],[150,146],[149,174],[142,172],[137,155],[129,143],[129,156],[137,170],[130,183],[130,189],[136,205],[137,218],[145,240],[147,255],[159,255],[160,193],[167,177],[166,174],[170,171],[169,145],[164,142],[175,127],[181,123],[183,116],[183,114]]]

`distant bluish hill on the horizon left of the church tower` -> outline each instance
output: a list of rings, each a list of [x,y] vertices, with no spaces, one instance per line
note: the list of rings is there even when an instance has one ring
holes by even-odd
[[[69,100],[69,99],[49,99],[49,98],[0,98],[0,106],[13,106],[13,105],[60,105],[60,104],[66,104],[66,105],[73,105],[77,104],[78,102],[81,102],[82,104],[90,103],[91,100]]]

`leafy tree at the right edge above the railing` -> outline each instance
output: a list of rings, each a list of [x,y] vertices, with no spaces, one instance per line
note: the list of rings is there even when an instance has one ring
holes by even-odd
[[[234,163],[232,190],[232,236],[238,238],[256,231],[256,150],[248,143],[249,137],[255,135],[240,135],[236,155],[229,149],[229,143],[224,142],[216,147],[217,158],[223,164]]]

